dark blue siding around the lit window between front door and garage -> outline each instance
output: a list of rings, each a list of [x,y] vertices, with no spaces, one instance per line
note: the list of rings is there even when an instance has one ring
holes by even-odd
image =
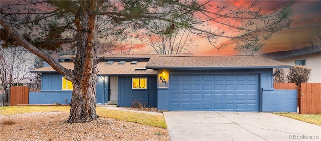
[[[147,89],[132,89],[132,78],[135,76],[118,77],[118,106],[130,107],[132,101],[146,103],[146,107],[157,107],[157,76],[147,77]]]

